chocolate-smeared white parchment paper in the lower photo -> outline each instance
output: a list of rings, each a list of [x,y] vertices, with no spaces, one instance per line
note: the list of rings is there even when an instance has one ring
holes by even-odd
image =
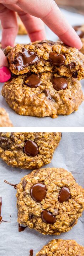
[[[52,162],[46,167],[59,167],[71,171],[79,185],[84,187],[84,133],[62,133],[62,139],[55,150]],[[33,249],[33,256],[41,248],[56,238],[75,239],[84,246],[84,213],[78,223],[69,232],[60,236],[42,235],[28,227],[18,232],[16,190],[4,183],[19,183],[21,178],[30,171],[7,166],[0,159],[0,196],[2,196],[2,217],[11,223],[2,222],[0,225],[0,256],[28,256]]]

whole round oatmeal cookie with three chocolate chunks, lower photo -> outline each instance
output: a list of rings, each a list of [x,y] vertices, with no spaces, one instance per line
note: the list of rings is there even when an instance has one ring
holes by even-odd
[[[84,189],[62,168],[32,171],[17,185],[16,196],[19,224],[42,234],[69,231],[84,210]]]

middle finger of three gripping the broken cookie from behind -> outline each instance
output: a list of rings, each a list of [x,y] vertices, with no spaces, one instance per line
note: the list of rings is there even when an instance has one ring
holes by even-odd
[[[46,32],[41,19],[25,12],[19,12],[18,14],[27,29],[31,41],[46,39]]]

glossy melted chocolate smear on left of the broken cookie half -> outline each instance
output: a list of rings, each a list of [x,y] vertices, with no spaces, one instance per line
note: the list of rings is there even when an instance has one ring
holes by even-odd
[[[23,52],[18,53],[15,57],[14,64],[17,70],[20,71],[28,65],[33,65],[38,61],[39,57],[34,52],[30,52],[26,48],[24,48]]]

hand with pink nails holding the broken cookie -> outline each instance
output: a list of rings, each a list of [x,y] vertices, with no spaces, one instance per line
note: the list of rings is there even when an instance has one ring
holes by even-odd
[[[18,31],[16,11],[24,23],[31,41],[46,39],[45,23],[65,44],[78,49],[82,48],[80,38],[54,0],[13,0],[13,4],[12,0],[0,0],[2,48],[8,45],[14,46]],[[0,66],[7,65],[6,57],[0,50]],[[0,77],[1,72],[2,69],[0,69]]]

